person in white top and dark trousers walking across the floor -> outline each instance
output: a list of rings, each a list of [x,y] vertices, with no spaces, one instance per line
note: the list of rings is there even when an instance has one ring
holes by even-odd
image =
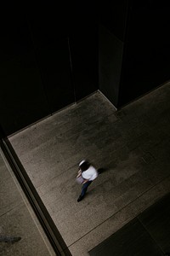
[[[79,164],[79,171],[77,177],[83,178],[82,182],[82,192],[81,195],[78,197],[77,201],[82,201],[84,198],[84,195],[87,192],[88,186],[94,181],[96,177],[98,177],[98,172],[92,166],[91,164],[88,163],[87,160],[82,160]]]

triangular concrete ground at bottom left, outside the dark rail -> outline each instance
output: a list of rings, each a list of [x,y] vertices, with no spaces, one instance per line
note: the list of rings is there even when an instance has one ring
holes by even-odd
[[[0,151],[0,255],[54,255]]]

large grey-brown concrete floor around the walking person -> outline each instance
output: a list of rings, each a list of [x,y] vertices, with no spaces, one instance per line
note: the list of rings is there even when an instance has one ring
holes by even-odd
[[[116,112],[99,92],[9,137],[72,255],[170,192],[170,83]],[[105,168],[77,202],[78,163]]]

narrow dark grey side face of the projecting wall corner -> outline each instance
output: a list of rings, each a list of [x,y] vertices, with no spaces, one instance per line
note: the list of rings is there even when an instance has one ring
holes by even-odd
[[[123,42],[99,24],[99,90],[117,108]]]

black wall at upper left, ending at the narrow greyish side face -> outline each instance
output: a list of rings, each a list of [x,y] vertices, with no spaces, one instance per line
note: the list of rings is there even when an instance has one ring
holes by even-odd
[[[3,4],[0,119],[7,135],[98,89],[94,11],[87,24],[87,9],[75,10],[69,3]]]

